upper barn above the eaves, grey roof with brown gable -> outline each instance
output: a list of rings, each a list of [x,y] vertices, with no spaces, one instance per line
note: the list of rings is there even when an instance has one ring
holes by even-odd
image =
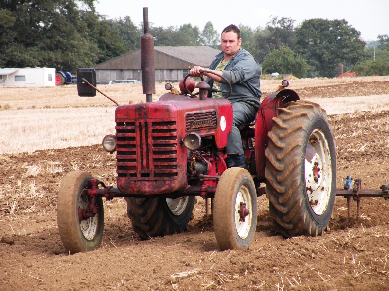
[[[209,67],[220,50],[208,46],[154,47],[155,69],[188,69],[195,65]],[[135,50],[92,66],[97,70],[139,70],[141,50]]]

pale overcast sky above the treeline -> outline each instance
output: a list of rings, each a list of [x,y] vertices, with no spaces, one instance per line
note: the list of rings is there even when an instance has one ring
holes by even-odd
[[[389,0],[98,0],[97,12],[108,19],[130,16],[139,25],[143,7],[148,7],[154,26],[180,26],[185,23],[203,29],[211,21],[220,33],[229,24],[265,27],[271,16],[290,17],[300,24],[304,19],[346,19],[361,32],[364,40],[389,35]]]

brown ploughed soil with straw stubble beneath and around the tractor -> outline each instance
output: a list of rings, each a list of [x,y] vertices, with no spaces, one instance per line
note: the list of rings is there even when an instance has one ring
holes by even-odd
[[[337,187],[351,175],[365,189],[389,183],[389,112],[330,116]],[[0,290],[389,290],[389,201],[362,198],[361,217],[337,198],[329,231],[286,239],[258,198],[248,250],[219,251],[212,215],[197,197],[189,231],[142,241],[123,199],[105,202],[101,247],[70,255],[56,221],[56,195],[74,169],[115,183],[115,158],[100,145],[0,156]]]

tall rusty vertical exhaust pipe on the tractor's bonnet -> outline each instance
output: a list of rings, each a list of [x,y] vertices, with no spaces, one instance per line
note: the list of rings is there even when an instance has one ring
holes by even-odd
[[[153,94],[155,94],[154,38],[149,33],[149,14],[147,7],[143,7],[143,29],[144,34],[141,36],[143,94],[146,94],[146,102],[153,102]]]

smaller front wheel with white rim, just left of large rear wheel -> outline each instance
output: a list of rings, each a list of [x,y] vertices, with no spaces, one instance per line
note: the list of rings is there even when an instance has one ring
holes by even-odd
[[[247,249],[257,228],[257,192],[250,173],[233,167],[217,183],[213,225],[221,250]]]

